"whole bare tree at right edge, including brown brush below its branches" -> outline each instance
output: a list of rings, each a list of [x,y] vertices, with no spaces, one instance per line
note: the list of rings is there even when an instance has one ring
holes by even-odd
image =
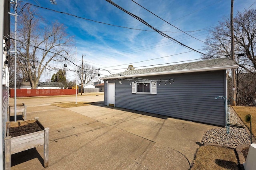
[[[234,49],[238,104],[251,104],[255,96],[255,86],[248,84],[256,80],[256,8],[237,12],[234,18]],[[214,57],[231,57],[230,19],[223,18],[206,39],[206,54]],[[202,56],[202,59],[208,59]]]

